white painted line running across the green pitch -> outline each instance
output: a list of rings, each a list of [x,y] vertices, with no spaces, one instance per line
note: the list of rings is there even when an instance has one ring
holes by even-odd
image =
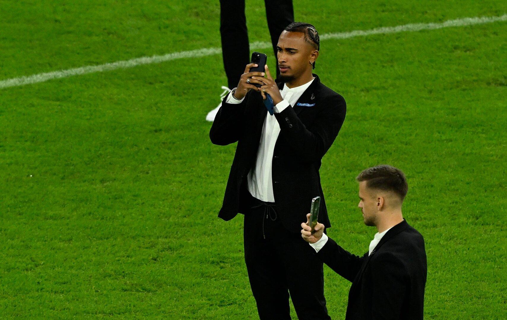
[[[356,36],[366,36],[372,34],[386,34],[386,33],[397,33],[397,32],[405,32],[405,31],[420,31],[420,30],[433,30],[433,29],[441,29],[447,27],[460,27],[474,24],[483,24],[483,23],[492,23],[497,21],[506,21],[507,14],[497,17],[475,17],[475,18],[462,18],[455,20],[448,20],[445,22],[439,23],[411,23],[404,24],[393,27],[380,27],[374,28],[370,30],[354,30],[348,32],[336,32],[336,33],[325,33],[320,36],[321,40],[327,39],[346,39],[352,38]],[[250,44],[250,48],[256,49],[266,49],[271,48],[271,43],[269,42],[255,42]],[[180,51],[173,52],[163,56],[151,56],[151,57],[141,57],[134,58],[130,60],[123,60],[111,63],[104,63],[99,65],[91,65],[79,68],[72,68],[66,70],[45,72],[32,74],[28,76],[21,76],[17,78],[5,79],[0,81],[0,89],[9,88],[9,87],[17,87],[29,84],[35,84],[39,82],[45,82],[51,79],[65,78],[68,76],[79,75],[79,74],[87,74],[94,72],[103,72],[110,71],[116,69],[125,69],[131,68],[142,64],[151,64],[151,63],[160,63],[165,61],[171,61],[182,58],[197,58],[204,56],[211,56],[215,54],[220,54],[222,52],[221,48],[206,48],[206,49],[197,49],[191,51]]]

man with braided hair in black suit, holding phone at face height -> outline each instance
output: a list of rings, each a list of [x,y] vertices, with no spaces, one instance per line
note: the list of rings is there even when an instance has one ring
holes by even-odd
[[[279,82],[268,66],[263,77],[248,64],[209,132],[214,144],[238,142],[219,217],[244,214],[245,262],[261,319],[290,319],[289,292],[300,319],[329,319],[323,264],[299,231],[315,196],[331,226],[319,168],[345,119],[345,100],[312,73],[319,36],[311,24],[288,25],[277,50]],[[310,290],[301,278],[312,282]]]

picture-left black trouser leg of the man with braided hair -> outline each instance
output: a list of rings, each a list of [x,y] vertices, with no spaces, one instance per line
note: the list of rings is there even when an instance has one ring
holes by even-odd
[[[256,205],[252,201],[249,207]],[[261,206],[251,209],[244,218],[245,263],[250,287],[261,320],[290,320],[283,264],[273,244],[273,233],[267,229],[265,215],[266,208]]]

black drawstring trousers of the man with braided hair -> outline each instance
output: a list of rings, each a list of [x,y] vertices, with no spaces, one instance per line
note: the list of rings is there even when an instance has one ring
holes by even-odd
[[[331,319],[325,306],[323,263],[314,249],[301,233],[282,226],[275,203],[251,195],[248,202],[245,262],[260,319],[291,319],[289,294],[300,320]]]

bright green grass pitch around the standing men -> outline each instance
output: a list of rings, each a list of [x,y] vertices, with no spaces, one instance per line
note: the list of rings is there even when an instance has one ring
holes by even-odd
[[[321,34],[507,12],[493,0],[294,4]],[[269,41],[263,2],[246,7],[250,42]],[[0,81],[221,44],[218,0],[4,1],[0,17]],[[428,319],[506,316],[506,27],[321,43],[315,72],[348,109],[320,170],[329,234],[366,252],[376,231],[354,178],[401,168],[404,216],[426,241]],[[225,84],[212,55],[0,89],[0,318],[257,318],[242,216],[216,217],[235,145],[212,145],[205,116]],[[324,276],[343,319],[350,283]]]

